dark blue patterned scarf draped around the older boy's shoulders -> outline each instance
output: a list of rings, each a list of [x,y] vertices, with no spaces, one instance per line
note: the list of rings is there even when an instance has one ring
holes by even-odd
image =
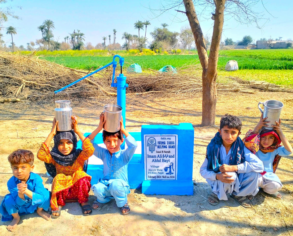
[[[220,148],[222,146],[223,139],[220,132],[217,132],[211,142],[207,145],[207,168],[209,171],[219,172],[220,168]],[[231,146],[231,156],[229,158],[229,165],[239,165],[244,163],[244,144],[243,141],[237,137]]]

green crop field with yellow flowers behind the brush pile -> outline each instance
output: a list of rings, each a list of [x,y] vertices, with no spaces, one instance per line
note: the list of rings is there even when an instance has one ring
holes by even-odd
[[[23,52],[28,54],[30,52]],[[113,61],[113,56],[103,50],[82,51],[39,51],[36,55],[45,60],[55,62],[66,67],[94,70]],[[192,54],[140,55],[138,50],[116,51],[116,54],[125,58],[125,67],[133,63],[139,64],[142,69],[159,70],[165,65],[172,65],[180,70],[191,65],[198,65],[200,61],[196,51]],[[151,54],[145,50],[143,54]],[[116,59],[118,60],[118,59]],[[239,70],[227,72],[224,70],[229,60],[238,62]],[[245,80],[263,80],[293,87],[293,49],[255,49],[255,50],[221,50],[218,60],[218,75],[240,77]]]

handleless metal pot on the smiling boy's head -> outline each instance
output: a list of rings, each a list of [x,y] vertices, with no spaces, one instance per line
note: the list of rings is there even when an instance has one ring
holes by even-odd
[[[110,133],[115,133],[120,130],[120,120],[122,116],[122,107],[117,104],[107,104],[104,106],[104,120],[103,129]]]

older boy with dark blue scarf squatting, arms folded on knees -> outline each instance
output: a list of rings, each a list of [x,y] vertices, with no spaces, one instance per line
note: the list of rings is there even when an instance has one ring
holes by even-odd
[[[220,121],[219,132],[207,146],[207,155],[200,174],[212,188],[208,202],[217,205],[228,200],[227,194],[243,207],[258,193],[258,173],[262,162],[243,144],[239,135],[242,123],[236,116],[226,115]]]

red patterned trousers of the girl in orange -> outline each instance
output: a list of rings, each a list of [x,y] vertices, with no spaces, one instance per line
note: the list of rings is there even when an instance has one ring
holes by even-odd
[[[65,201],[86,203],[88,193],[91,190],[91,182],[87,178],[81,178],[71,188],[64,189],[56,194],[57,204],[64,206]]]

